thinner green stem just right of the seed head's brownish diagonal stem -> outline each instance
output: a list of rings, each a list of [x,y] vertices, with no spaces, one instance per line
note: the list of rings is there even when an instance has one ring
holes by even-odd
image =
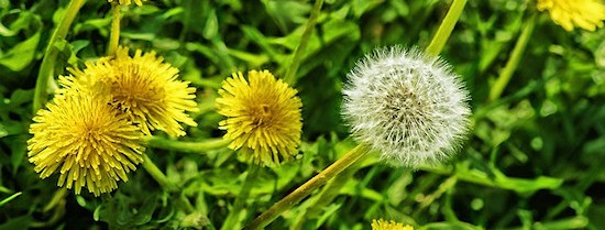
[[[321,189],[321,193],[317,196],[312,204],[304,210],[304,213],[296,220],[296,222],[290,227],[290,230],[300,230],[302,224],[309,219],[317,219],[321,216],[321,210],[328,207],[332,200],[340,194],[340,190],[349,179],[362,167],[362,163],[365,158],[371,156],[371,154],[365,154],[362,158],[358,160],[354,164],[346,167],[340,174],[338,174],[333,179],[331,179],[326,186]]]

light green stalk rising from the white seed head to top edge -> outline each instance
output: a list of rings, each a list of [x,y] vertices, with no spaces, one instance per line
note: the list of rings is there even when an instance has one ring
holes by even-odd
[[[458,22],[458,19],[460,19],[460,14],[462,14],[465,4],[466,0],[453,0],[452,7],[446,14],[446,18],[443,19],[443,22],[441,22],[441,25],[439,25],[439,29],[437,29],[437,33],[432,37],[429,46],[427,46],[426,52],[428,55],[438,56],[439,53],[441,53],[441,50],[443,50],[446,42],[450,39],[450,35],[452,34],[455,23]]]

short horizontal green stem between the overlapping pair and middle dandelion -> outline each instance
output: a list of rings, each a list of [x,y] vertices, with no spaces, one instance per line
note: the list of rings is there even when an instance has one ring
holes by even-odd
[[[183,142],[183,141],[173,141],[161,138],[146,138],[145,142],[150,147],[157,147],[163,150],[174,150],[178,152],[187,153],[202,153],[210,150],[217,150],[226,147],[231,143],[230,140],[224,139],[211,139],[205,142]]]

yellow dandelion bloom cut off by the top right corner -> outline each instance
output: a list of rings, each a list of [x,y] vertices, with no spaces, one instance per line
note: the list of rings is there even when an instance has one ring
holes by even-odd
[[[574,26],[595,31],[603,26],[605,4],[601,0],[538,0],[538,10],[548,10],[552,21],[566,31]]]

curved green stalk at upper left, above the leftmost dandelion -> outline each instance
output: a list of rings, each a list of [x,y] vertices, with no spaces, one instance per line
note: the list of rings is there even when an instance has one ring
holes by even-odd
[[[69,26],[74,22],[74,19],[76,19],[84,2],[85,0],[72,0],[67,6],[67,11],[53,32],[53,35],[51,35],[51,41],[48,41],[48,45],[44,52],[44,57],[42,58],[42,64],[40,65],[40,72],[37,73],[37,79],[35,81],[34,101],[32,106],[34,113],[46,103],[48,81],[54,75],[55,62],[58,56],[58,50],[55,47],[55,43],[65,39]]]

